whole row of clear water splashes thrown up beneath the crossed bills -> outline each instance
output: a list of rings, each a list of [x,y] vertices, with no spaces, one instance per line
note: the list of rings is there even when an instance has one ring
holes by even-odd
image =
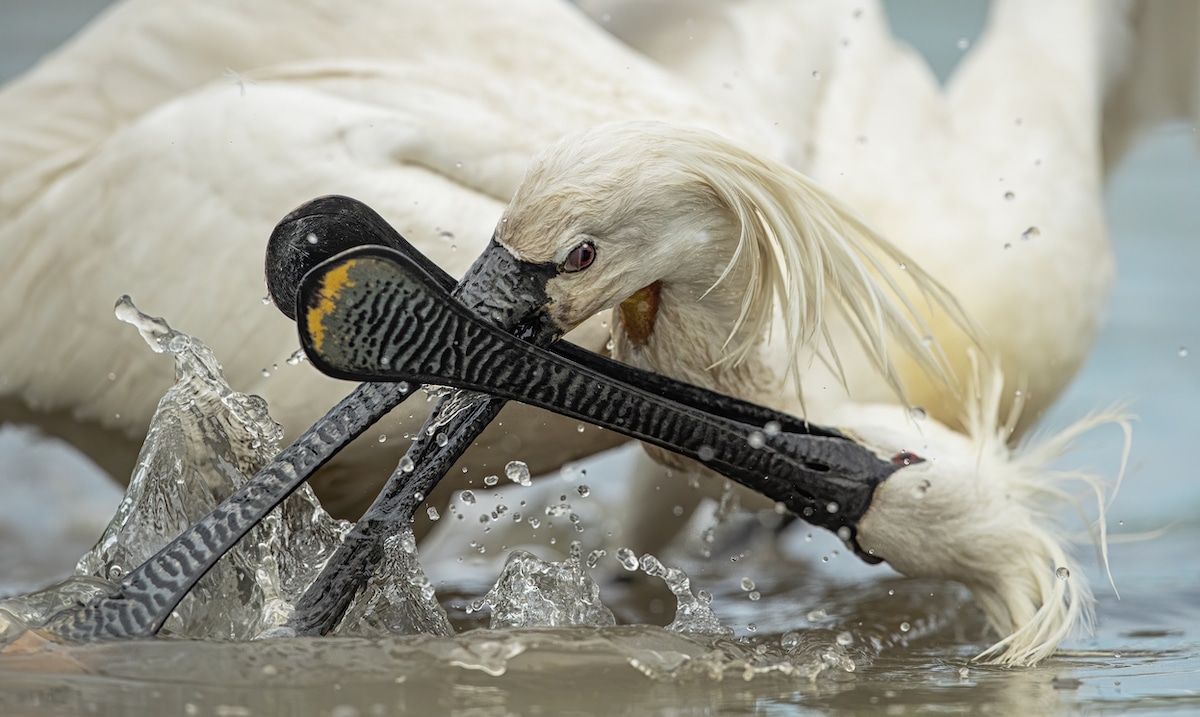
[[[174,356],[178,380],[160,402],[118,514],[96,548],[79,561],[80,574],[58,588],[0,605],[16,617],[0,620],[2,641],[19,632],[10,629],[14,626],[44,622],[65,607],[112,592],[112,580],[209,512],[277,451],[281,430],[265,403],[233,391],[203,343],[172,330],[162,319],[142,314],[126,299],[118,305],[118,314],[134,325],[154,350]],[[524,464],[514,462],[506,469],[515,482],[528,480]],[[587,486],[576,486],[575,492],[587,499],[593,493]],[[463,494],[464,501],[474,498]],[[566,493],[558,498],[559,504],[547,507],[547,516],[570,514],[575,522],[565,502]],[[734,505],[731,492],[718,510],[718,524]],[[493,520],[502,513],[500,507]],[[167,629],[182,637],[235,640],[287,634],[278,626],[347,529],[348,524],[329,518],[302,487],[200,582],[172,615]],[[840,634],[824,634],[828,631],[805,631],[802,638],[778,646],[763,641],[766,638],[733,639],[733,631],[722,626],[713,611],[712,596],[704,591],[694,595],[682,570],[668,568],[653,555],[637,560],[628,549],[617,553],[626,567],[662,579],[676,596],[676,616],[665,632],[644,626],[613,627],[613,613],[601,602],[600,589],[588,572],[605,553],[594,550],[584,561],[578,542],[571,543],[570,556],[562,562],[512,553],[494,586],[478,602],[492,607],[492,628],[562,628],[556,634],[568,641],[574,639],[571,626],[612,628],[614,632],[606,631],[607,637],[599,639],[611,640],[613,650],[624,655],[630,665],[662,680],[725,674],[750,679],[770,671],[810,676],[830,670],[846,673],[854,669],[847,652],[851,646],[876,646],[877,640],[864,640],[862,635],[848,645]],[[420,644],[439,653],[449,650],[444,656],[449,664],[493,675],[503,674],[514,657],[546,639],[545,633],[528,637],[520,631],[502,638],[494,633],[491,638],[454,637],[433,585],[418,562],[410,531],[385,542],[376,574],[350,604],[336,633],[420,635],[414,638],[422,640]],[[626,640],[625,635],[631,634],[638,637]]]

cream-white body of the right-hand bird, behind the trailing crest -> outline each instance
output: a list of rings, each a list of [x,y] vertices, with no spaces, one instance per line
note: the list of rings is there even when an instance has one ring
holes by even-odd
[[[714,101],[732,97],[803,139],[779,158],[881,228],[983,329],[1010,384],[1002,410],[1024,404],[1020,436],[1079,369],[1104,314],[1108,170],[1148,127],[1200,121],[1200,2],[990,5],[943,89],[878,2],[582,2]],[[966,337],[926,320],[967,379]],[[844,360],[850,396],[894,400],[869,362]],[[960,427],[958,398],[913,368],[901,361],[910,400]],[[834,400],[839,382],[805,375]]]

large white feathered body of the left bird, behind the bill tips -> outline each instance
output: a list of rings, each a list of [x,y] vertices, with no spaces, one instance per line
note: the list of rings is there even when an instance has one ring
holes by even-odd
[[[538,149],[635,116],[786,144],[557,1],[119,4],[0,92],[0,247],[17,267],[0,331],[20,337],[0,344],[0,417],[126,480],[172,370],[112,319],[127,293],[211,343],[294,438],[349,386],[286,363],[295,330],[260,301],[275,222],[350,194],[461,275]],[[572,339],[602,350],[601,321]],[[380,433],[415,433],[427,410]],[[452,472],[545,472],[618,440],[514,405]],[[396,440],[360,444],[316,480],[341,514],[397,459]]]

